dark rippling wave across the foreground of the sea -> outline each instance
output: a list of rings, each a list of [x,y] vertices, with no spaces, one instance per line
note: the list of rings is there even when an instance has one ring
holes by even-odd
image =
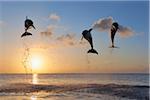
[[[51,96],[64,96],[61,93],[87,93],[97,95],[109,95],[122,98],[149,100],[149,86],[146,85],[118,85],[118,84],[30,84],[13,83],[0,86],[0,95],[28,95],[30,93],[45,92],[49,93],[42,98]]]

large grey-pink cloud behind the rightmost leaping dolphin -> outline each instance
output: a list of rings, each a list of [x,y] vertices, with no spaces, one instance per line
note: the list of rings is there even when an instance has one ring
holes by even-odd
[[[98,30],[100,32],[106,31],[109,33],[113,22],[115,21],[113,20],[112,17],[100,18],[93,24],[93,29]],[[119,24],[118,33],[120,34],[121,37],[129,37],[134,34],[134,31],[129,27]]]

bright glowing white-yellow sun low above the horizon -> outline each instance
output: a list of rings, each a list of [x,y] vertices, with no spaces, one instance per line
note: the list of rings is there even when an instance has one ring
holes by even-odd
[[[42,58],[40,56],[33,56],[31,58],[32,70],[39,70],[42,66]]]

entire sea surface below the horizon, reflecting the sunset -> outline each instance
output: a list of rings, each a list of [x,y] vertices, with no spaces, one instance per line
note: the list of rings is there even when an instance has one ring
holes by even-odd
[[[0,74],[0,100],[149,100],[149,74]]]

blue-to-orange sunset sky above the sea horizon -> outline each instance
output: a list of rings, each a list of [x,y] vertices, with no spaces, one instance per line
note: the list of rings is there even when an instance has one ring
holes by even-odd
[[[148,12],[148,1],[0,1],[0,73],[25,73],[26,57],[34,73],[148,73]],[[21,38],[26,16],[36,29]],[[109,48],[109,29],[94,29],[99,55],[87,54],[82,31],[105,19],[124,28],[119,48]]]

